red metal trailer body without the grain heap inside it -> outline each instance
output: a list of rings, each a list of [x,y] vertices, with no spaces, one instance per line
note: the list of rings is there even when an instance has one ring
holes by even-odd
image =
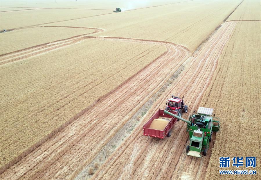
[[[169,111],[172,114],[177,114],[177,111]],[[152,121],[158,118],[166,118],[169,119],[170,121],[168,124],[165,126],[163,130],[157,130],[157,129],[152,129],[150,128]],[[164,110],[159,109],[149,120],[148,122],[143,126],[143,135],[144,136],[152,136],[156,138],[165,138],[166,136],[170,137],[171,135],[171,128],[177,122],[177,118],[170,116],[166,113],[164,113]]]

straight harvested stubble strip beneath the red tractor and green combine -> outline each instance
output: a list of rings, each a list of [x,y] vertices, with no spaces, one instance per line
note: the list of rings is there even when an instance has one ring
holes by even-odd
[[[211,148],[206,157],[201,159],[186,156],[185,147],[188,143],[186,123],[179,121],[172,130],[172,137],[164,140],[143,136],[142,125],[158,109],[165,107],[165,98],[171,94],[185,99],[189,111],[197,109],[213,73],[222,49],[233,33],[235,22],[225,23],[217,32],[194,54],[190,65],[174,81],[172,88],[166,91],[154,107],[147,113],[141,124],[121,144],[103,166],[96,172],[93,179],[199,179],[204,178]],[[188,118],[189,113],[183,115]],[[215,137],[214,137],[215,139]],[[186,172],[186,173],[182,173]]]

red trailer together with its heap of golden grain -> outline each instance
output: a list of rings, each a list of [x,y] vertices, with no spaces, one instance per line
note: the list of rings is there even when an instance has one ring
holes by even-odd
[[[170,111],[172,114],[177,114],[177,111]],[[156,138],[165,138],[171,136],[171,128],[177,122],[177,118],[164,113],[164,110],[159,109],[143,126],[143,135]]]

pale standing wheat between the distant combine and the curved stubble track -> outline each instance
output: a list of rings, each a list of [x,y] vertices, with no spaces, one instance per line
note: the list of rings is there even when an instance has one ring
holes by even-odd
[[[193,52],[239,3],[240,1],[187,1],[90,17],[88,21],[75,19],[52,24],[100,27],[106,29],[100,36],[168,41],[183,45]]]

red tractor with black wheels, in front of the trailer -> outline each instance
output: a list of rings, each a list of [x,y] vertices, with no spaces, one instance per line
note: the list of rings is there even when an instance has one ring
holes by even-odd
[[[180,99],[179,97],[173,97],[173,95],[171,97],[172,98],[168,99],[168,101],[166,102],[165,110],[177,111],[177,115],[179,117],[181,117],[182,113],[188,112],[188,106],[184,105],[184,96],[182,97],[182,99]]]

